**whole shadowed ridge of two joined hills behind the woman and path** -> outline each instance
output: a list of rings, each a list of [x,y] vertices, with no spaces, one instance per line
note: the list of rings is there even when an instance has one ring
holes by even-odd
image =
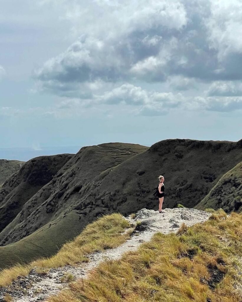
[[[164,208],[177,203],[194,207],[242,161],[241,151],[242,140],[163,140],[150,148],[126,143],[83,147],[2,230],[1,265],[20,244],[24,250],[31,246],[27,261],[55,253],[97,216],[113,212],[126,216],[144,207],[157,210],[152,193],[160,174],[166,185]]]

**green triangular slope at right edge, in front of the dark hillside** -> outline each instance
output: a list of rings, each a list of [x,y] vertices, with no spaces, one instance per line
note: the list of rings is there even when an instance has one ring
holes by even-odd
[[[209,194],[196,205],[197,209],[223,208],[225,211],[242,209],[242,162],[225,173]]]

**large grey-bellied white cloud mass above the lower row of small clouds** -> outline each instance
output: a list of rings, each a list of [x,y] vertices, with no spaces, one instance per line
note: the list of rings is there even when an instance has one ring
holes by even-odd
[[[47,3],[58,6],[56,1]],[[161,82],[174,75],[223,79],[231,72],[225,68],[229,62],[220,60],[222,49],[233,45],[225,52],[240,53],[240,39],[231,35],[232,28],[240,29],[239,14],[233,14],[240,7],[235,0],[224,7],[207,0],[63,0],[62,5],[81,37],[35,70],[37,79],[54,83],[53,93],[56,82]],[[242,78],[242,72],[237,69],[234,76]]]

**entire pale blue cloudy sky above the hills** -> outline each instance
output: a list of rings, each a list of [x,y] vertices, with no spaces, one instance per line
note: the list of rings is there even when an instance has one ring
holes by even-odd
[[[240,0],[0,3],[1,148],[242,138]]]

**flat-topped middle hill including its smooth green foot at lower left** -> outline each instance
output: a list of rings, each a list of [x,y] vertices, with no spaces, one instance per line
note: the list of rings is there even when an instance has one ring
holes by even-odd
[[[80,202],[78,191],[88,198],[89,188],[95,185],[98,175],[147,149],[122,143],[81,148],[1,232],[2,245],[7,245],[0,246],[0,268],[56,253],[100,212],[109,212],[109,208],[102,207],[91,211],[87,207],[86,213],[74,209]]]

